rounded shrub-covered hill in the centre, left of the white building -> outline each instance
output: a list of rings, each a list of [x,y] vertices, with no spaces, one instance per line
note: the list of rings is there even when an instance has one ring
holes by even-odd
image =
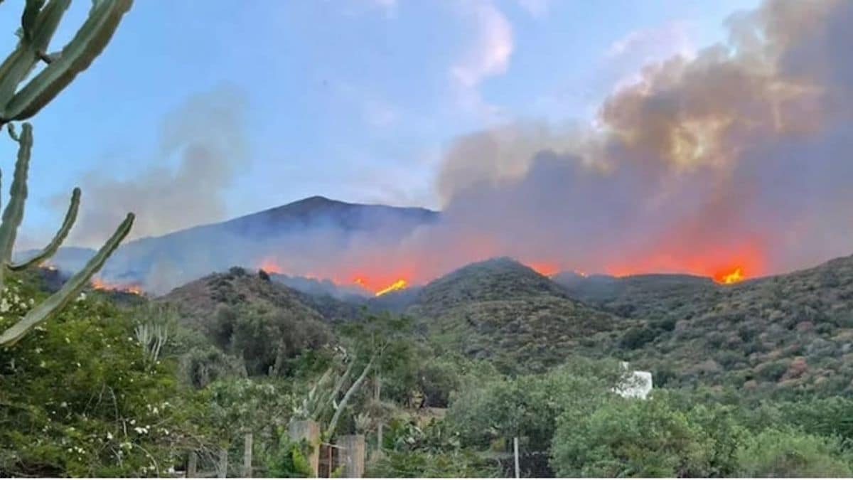
[[[603,354],[635,320],[586,307],[508,259],[464,266],[427,284],[406,313],[437,342],[494,360],[505,372],[542,371],[569,354]]]

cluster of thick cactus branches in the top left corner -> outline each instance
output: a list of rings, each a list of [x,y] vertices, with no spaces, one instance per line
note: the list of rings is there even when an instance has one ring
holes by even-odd
[[[0,125],[25,120],[53,100],[78,73],[100,55],[132,0],[93,0],[89,17],[60,51],[48,54],[62,15],[71,0],[26,0],[15,50],[0,64]],[[18,88],[39,61],[47,63],[23,88]]]

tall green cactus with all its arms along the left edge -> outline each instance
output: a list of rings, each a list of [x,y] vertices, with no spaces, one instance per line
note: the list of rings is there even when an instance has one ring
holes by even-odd
[[[2,3],[3,0],[0,0]],[[50,102],[78,73],[84,71],[100,55],[113,37],[122,16],[131,8],[132,0],[92,0],[89,17],[78,32],[60,52],[48,54],[50,38],[56,32],[62,15],[71,0],[26,0],[20,19],[20,40],[15,50],[0,64],[0,126],[12,120],[25,120]],[[47,64],[40,72],[19,88],[32,73],[39,61]],[[24,123],[20,135],[9,123],[9,136],[18,143],[18,159],[15,174],[9,189],[9,204],[3,211],[0,224],[0,291],[8,272],[25,269],[48,259],[59,249],[77,219],[80,205],[80,190],[75,188],[71,196],[65,220],[53,240],[38,254],[22,262],[12,262],[15,237],[24,218],[26,203],[26,175],[32,155],[32,126]],[[15,325],[0,334],[0,346],[9,346],[20,340],[27,331],[49,319],[54,313],[78,296],[92,276],[96,274],[109,255],[131,231],[133,214],[128,214],[113,236],[104,243],[82,270],[68,279],[66,284],[44,303],[33,307]]]

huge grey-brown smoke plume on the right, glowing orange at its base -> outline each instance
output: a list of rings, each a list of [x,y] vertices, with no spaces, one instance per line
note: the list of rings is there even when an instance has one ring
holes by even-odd
[[[748,275],[853,251],[853,3],[781,1],[728,44],[644,68],[594,127],[460,138],[445,220],[594,272]]]

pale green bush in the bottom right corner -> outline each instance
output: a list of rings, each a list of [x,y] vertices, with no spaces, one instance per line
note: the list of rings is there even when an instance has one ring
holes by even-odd
[[[850,477],[837,440],[795,430],[764,430],[738,451],[741,477]]]

